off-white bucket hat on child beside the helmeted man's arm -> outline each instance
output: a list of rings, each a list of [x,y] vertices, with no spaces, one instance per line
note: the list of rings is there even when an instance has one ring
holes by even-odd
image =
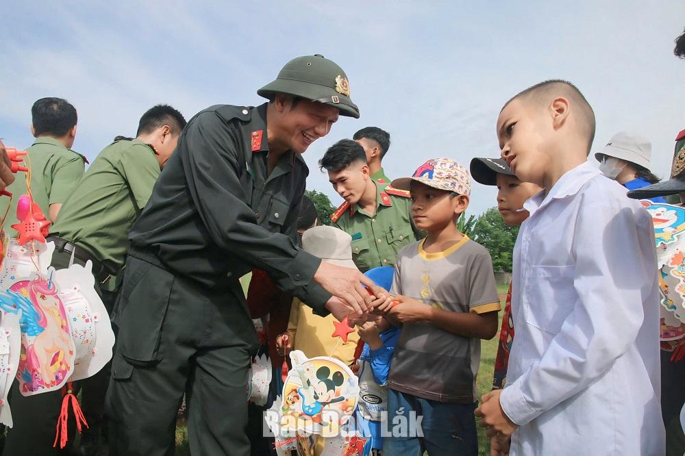
[[[310,228],[302,235],[302,248],[326,263],[357,268],[352,261],[352,236],[341,229],[326,225]]]

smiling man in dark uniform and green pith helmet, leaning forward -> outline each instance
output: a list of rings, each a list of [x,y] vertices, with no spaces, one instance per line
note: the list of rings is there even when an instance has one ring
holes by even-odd
[[[250,453],[258,338],[238,282],[249,270],[340,320],[375,304],[362,283],[382,295],[358,270],[296,246],[308,175],[300,154],[339,115],[359,116],[347,75],[307,55],[257,93],[269,103],[214,105],[190,119],[130,233],[106,401],[112,455],[173,454],[184,392],[192,455]]]

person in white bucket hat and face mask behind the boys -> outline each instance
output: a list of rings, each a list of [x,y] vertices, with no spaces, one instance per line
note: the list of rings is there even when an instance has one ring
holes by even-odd
[[[636,190],[657,183],[660,179],[649,170],[651,142],[640,136],[617,133],[601,152],[595,153],[599,170],[628,190]],[[662,197],[651,198],[655,203],[665,203]]]

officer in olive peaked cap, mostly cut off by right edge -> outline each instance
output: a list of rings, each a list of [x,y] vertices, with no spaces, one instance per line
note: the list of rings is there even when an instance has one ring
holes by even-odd
[[[671,179],[631,190],[627,194],[634,199],[679,195],[680,204],[685,204],[685,130],[675,137]],[[661,409],[666,426],[667,456],[680,456],[685,452],[685,434],[680,424],[680,413],[685,404],[685,389],[682,388],[685,383],[685,359],[674,355],[677,349],[679,347],[673,342],[662,342]]]

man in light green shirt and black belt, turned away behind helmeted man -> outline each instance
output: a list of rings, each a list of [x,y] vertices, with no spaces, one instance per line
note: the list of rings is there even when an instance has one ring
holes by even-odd
[[[182,114],[169,105],[157,105],[145,112],[135,139],[119,137],[99,153],[50,228],[47,241],[55,243],[52,266],[68,267],[72,253],[76,264],[90,260],[96,290],[110,312],[114,292],[109,291],[109,277],[123,267],[129,230],[185,125]],[[95,454],[97,449],[109,374],[104,368],[79,382],[82,411],[89,425],[77,448],[80,454]],[[62,454],[52,447],[61,403],[59,391],[24,397],[14,388],[10,396],[14,427],[8,432],[3,455]]]

